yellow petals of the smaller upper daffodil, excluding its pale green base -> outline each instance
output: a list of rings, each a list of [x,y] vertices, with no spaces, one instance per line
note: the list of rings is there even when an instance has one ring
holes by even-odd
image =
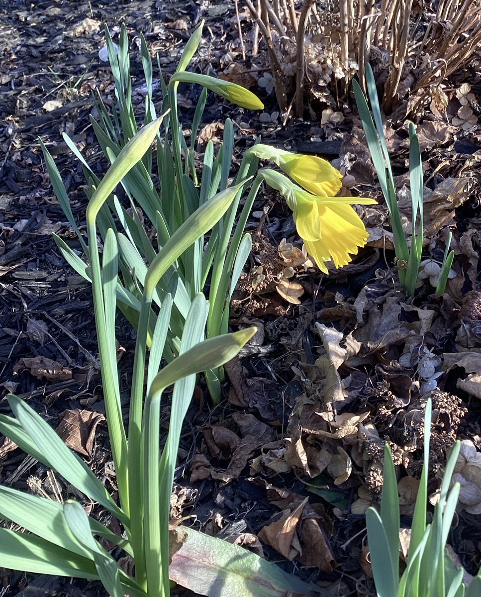
[[[341,188],[342,174],[317,156],[285,152],[282,153],[279,166],[314,195],[334,197]]]

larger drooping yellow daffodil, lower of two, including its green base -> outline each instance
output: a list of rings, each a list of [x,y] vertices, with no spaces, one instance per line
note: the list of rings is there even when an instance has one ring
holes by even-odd
[[[368,232],[352,204],[372,205],[374,199],[312,195],[275,170],[261,170],[260,176],[285,197],[307,252],[323,272],[331,259],[336,267],[347,265],[366,244]]]

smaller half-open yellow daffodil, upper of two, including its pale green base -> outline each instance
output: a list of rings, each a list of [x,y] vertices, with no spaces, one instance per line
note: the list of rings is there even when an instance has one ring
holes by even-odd
[[[292,153],[263,144],[254,145],[248,151],[258,158],[271,159],[292,180],[318,197],[334,197],[341,188],[343,175],[315,155]]]

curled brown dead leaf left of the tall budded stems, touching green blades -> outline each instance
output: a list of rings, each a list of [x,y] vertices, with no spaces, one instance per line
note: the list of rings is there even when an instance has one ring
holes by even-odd
[[[63,413],[60,413],[57,433],[70,450],[91,457],[95,429],[97,429],[98,424],[105,421],[106,418],[101,413],[92,413],[92,411],[80,410],[79,408],[64,410]]]

